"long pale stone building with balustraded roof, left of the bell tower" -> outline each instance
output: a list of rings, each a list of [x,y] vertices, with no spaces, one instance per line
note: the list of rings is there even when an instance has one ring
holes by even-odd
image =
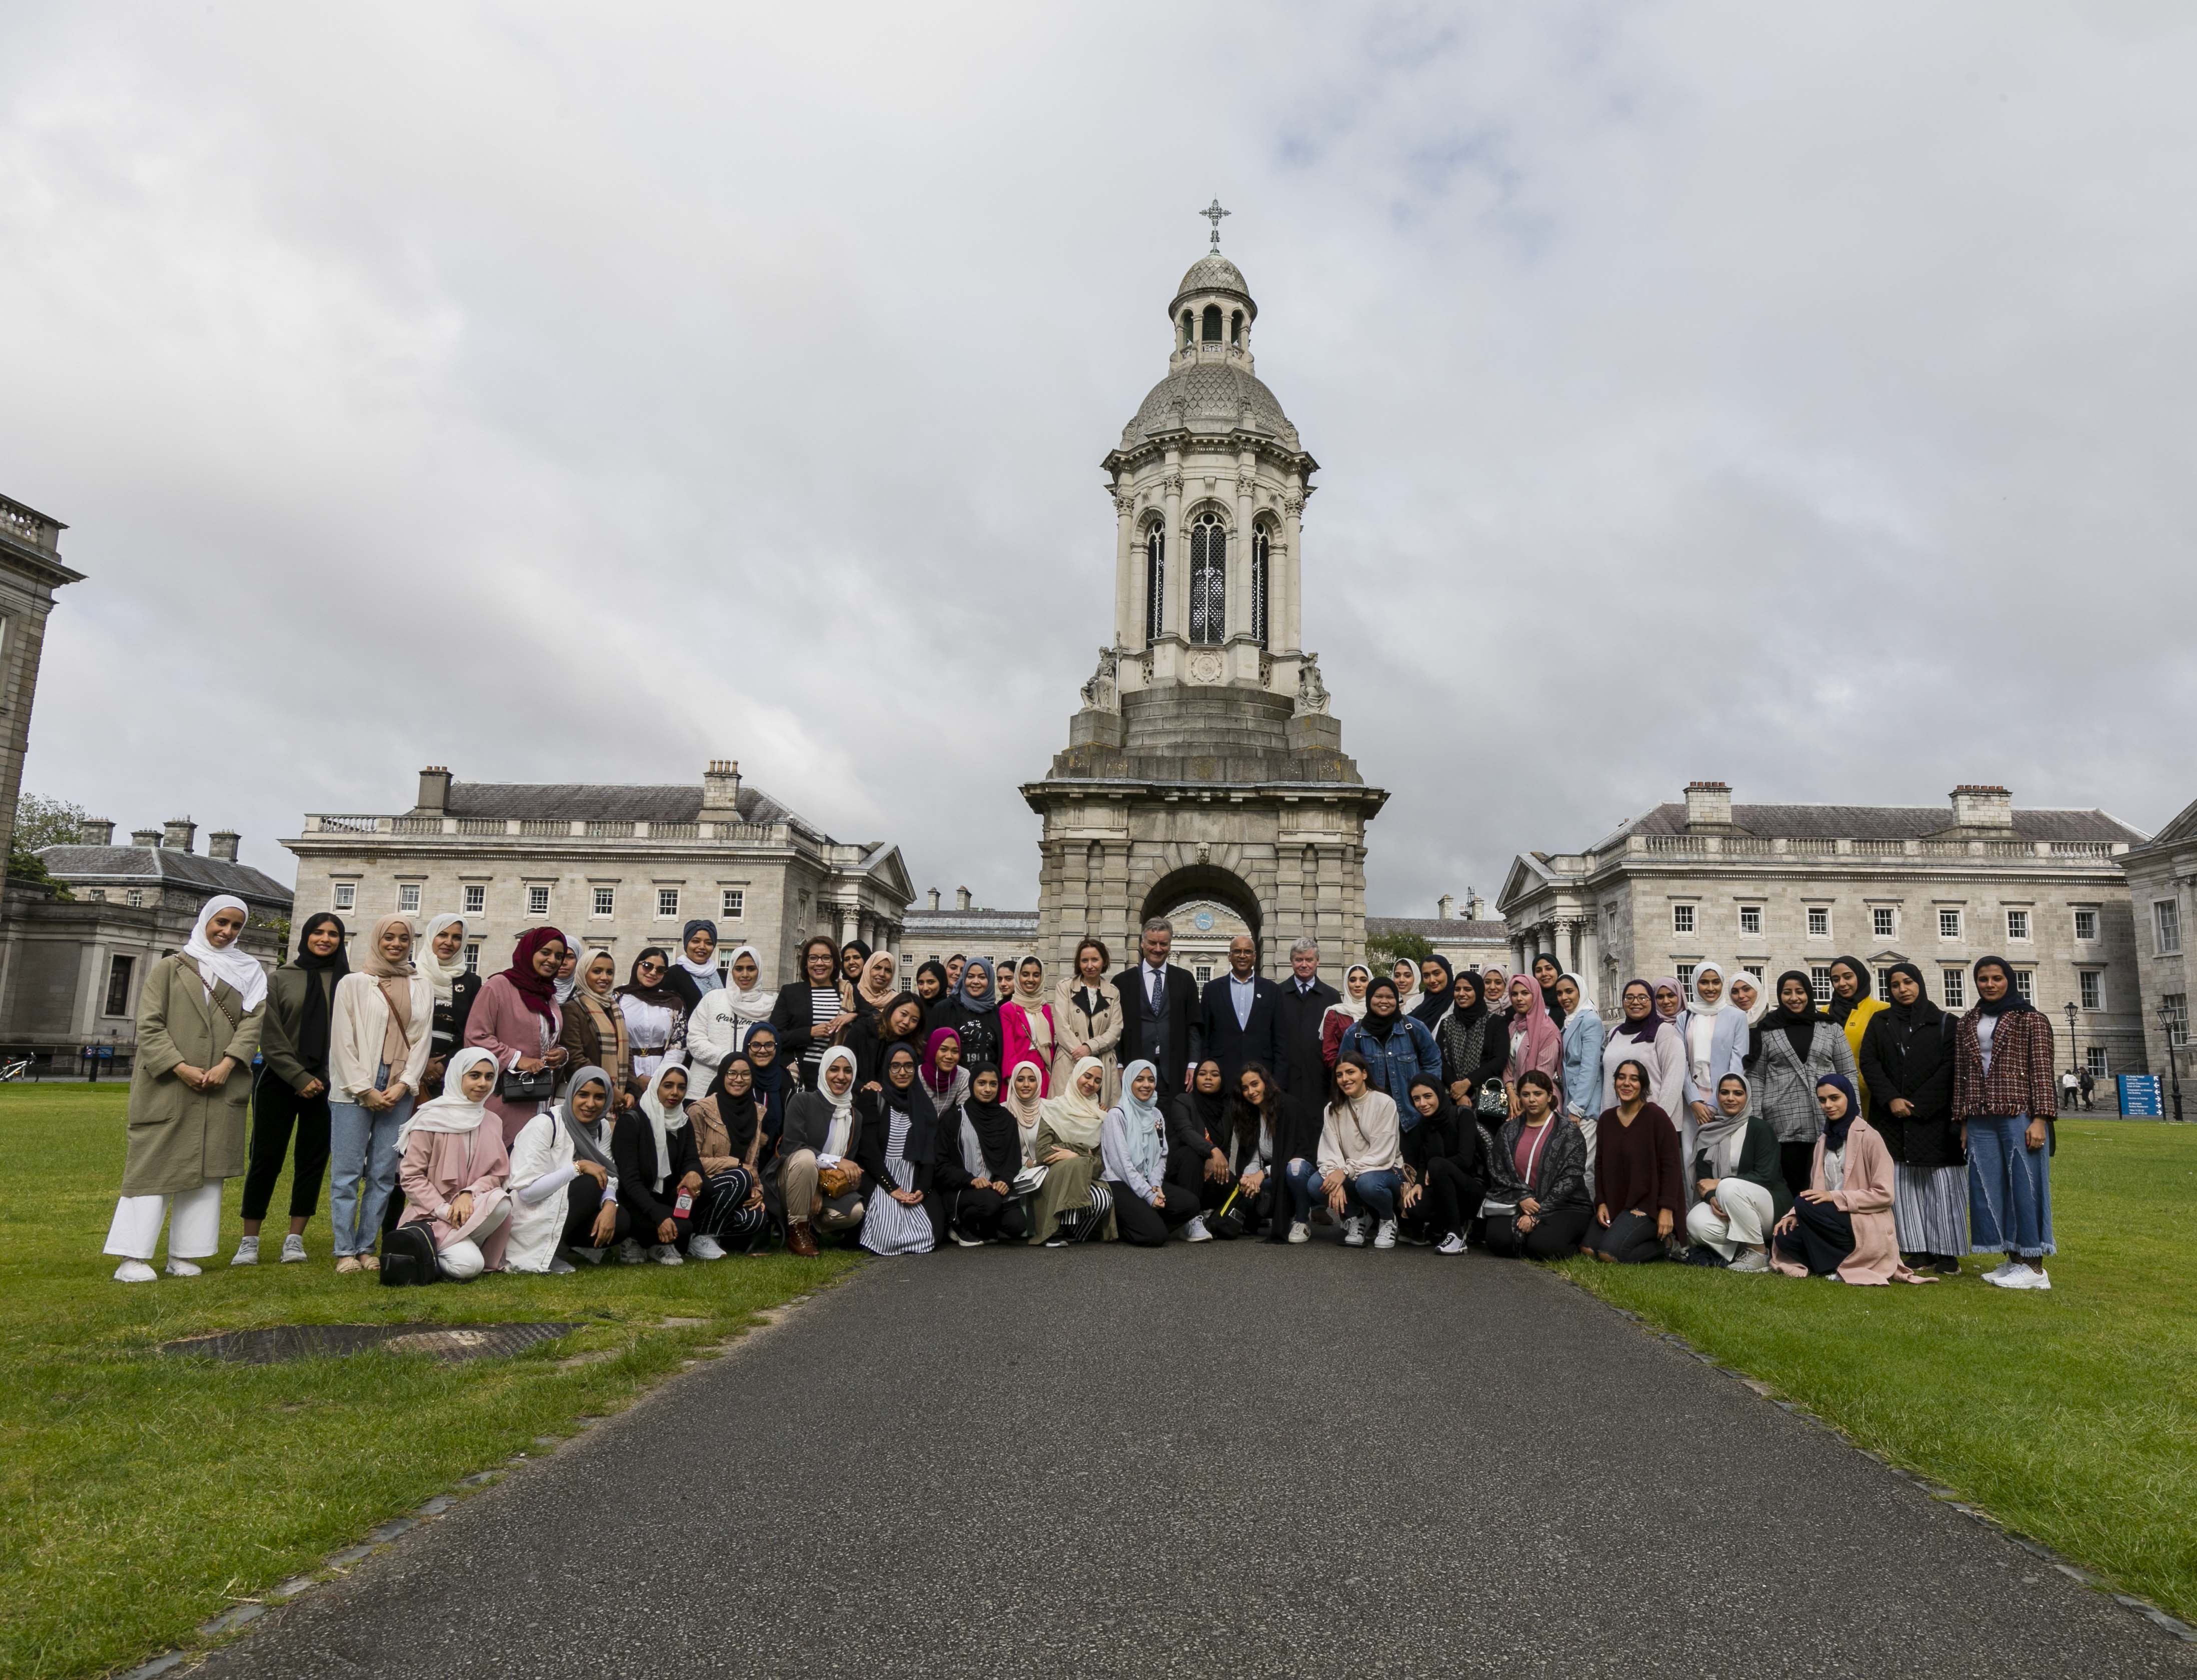
[[[312,815],[283,845],[299,916],[330,909],[358,933],[378,916],[453,911],[481,973],[545,922],[626,971],[707,918],[721,960],[751,944],[776,986],[811,933],[899,951],[914,898],[896,845],[833,839],[743,786],[732,760],[683,786],[459,782],[437,764],[411,810]]]

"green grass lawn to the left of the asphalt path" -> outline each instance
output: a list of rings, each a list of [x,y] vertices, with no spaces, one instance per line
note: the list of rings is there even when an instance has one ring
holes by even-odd
[[[123,1085],[0,1087],[0,1673],[81,1676],[191,1643],[461,1476],[613,1412],[852,1256],[604,1267],[382,1289],[338,1278],[327,1197],[308,1265],[231,1269],[242,1179],[204,1278],[112,1283]],[[165,1254],[165,1247],[163,1247]],[[156,1261],[158,1265],[158,1261]],[[154,1348],[261,1324],[582,1322],[510,1359],[363,1353],[224,1366]],[[683,1320],[683,1322],[668,1322]],[[567,1364],[576,1353],[606,1355]]]

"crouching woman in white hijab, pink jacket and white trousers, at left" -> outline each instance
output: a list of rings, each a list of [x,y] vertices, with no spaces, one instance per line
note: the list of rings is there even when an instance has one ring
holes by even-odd
[[[404,1186],[400,1225],[426,1225],[435,1239],[435,1267],[453,1283],[503,1269],[512,1239],[512,1199],[505,1184],[512,1160],[503,1127],[488,1120],[497,1089],[497,1059],[459,1050],[444,1069],[442,1096],[413,1109],[398,1133],[398,1184]]]

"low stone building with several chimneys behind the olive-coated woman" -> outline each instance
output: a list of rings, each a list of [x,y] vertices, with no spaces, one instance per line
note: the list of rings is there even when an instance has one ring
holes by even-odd
[[[200,907],[222,892],[250,909],[244,949],[279,964],[290,889],[237,863],[233,830],[209,839],[198,852],[198,826],[178,817],[114,845],[114,824],[92,819],[77,843],[42,845],[46,874],[73,896],[15,883],[0,907],[0,1048],[66,1063],[103,1045],[127,1063],[145,973],[182,949]]]

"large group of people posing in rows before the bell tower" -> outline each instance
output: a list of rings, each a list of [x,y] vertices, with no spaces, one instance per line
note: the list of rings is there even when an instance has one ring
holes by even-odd
[[[321,914],[272,975],[237,949],[246,907],[207,900],[143,986],[116,1278],[220,1243],[233,1265],[286,1162],[281,1261],[330,1190],[338,1272],[450,1280],[681,1265],[782,1243],[1312,1241],[1588,1254],[1733,1272],[2050,1289],[2052,1023],[1999,957],[1949,1017],[1914,964],[1872,997],[1856,957],[1764,988],[1700,964],[1591,986],[1457,971],[1435,955],[1320,977],[1298,940],[1259,973],[1250,936],[1200,984],[1151,920],[1129,966],[1085,938],[1048,979],[1030,955],[925,962],[811,938],[765,986],[688,922],[624,979],[609,951],[527,929],[486,979],[466,927],[384,916],[356,944]],[[246,1146],[246,1131],[248,1146]],[[391,1258],[398,1256],[398,1258]]]

